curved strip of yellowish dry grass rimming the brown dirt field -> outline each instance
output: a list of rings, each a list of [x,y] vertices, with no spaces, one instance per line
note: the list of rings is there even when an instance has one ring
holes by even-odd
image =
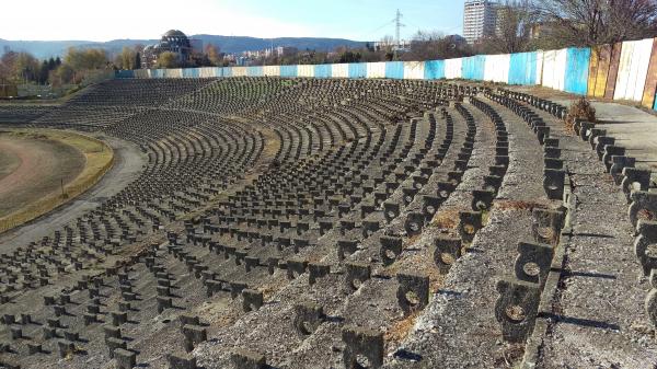
[[[19,211],[0,218],[0,233],[35,219],[82,194],[96,184],[114,164],[112,148],[89,136],[55,129],[11,129],[10,131],[10,135],[15,137],[49,139],[71,146],[84,155],[85,165],[82,172],[64,187],[64,193],[50,194]]]

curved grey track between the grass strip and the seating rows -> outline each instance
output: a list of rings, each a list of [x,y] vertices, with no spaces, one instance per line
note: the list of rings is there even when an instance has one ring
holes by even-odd
[[[95,208],[102,200],[118,193],[139,176],[148,159],[136,145],[106,136],[102,140],[114,149],[114,166],[84,194],[45,216],[0,234],[0,253],[12,252],[31,241],[50,234],[54,230]],[[0,181],[3,181],[0,172]]]

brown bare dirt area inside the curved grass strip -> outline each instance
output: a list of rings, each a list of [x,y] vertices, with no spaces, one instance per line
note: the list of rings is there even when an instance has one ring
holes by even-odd
[[[0,217],[57,192],[84,169],[84,154],[56,140],[0,134]],[[9,166],[9,168],[8,168]]]

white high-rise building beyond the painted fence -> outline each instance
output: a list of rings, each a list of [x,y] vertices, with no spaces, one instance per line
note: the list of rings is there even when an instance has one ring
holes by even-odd
[[[497,3],[488,0],[466,0],[463,12],[463,37],[474,44],[495,34]]]

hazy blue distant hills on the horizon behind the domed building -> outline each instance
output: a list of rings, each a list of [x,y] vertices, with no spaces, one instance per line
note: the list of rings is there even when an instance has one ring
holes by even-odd
[[[283,38],[256,38],[246,36],[215,36],[215,35],[193,35],[192,38],[203,41],[204,45],[212,44],[218,46],[223,53],[242,53],[247,50],[261,50],[274,46],[296,47],[300,50],[314,49],[319,51],[331,51],[339,46],[361,47],[364,42],[355,42],[342,38],[313,38],[313,37],[283,37]],[[35,57],[43,59],[66,54],[69,47],[100,47],[110,54],[119,53],[124,46],[135,46],[138,44],[149,45],[157,43],[157,39],[113,39],[105,43],[89,41],[7,41],[0,38],[0,54],[4,47],[14,51],[27,51]]]

